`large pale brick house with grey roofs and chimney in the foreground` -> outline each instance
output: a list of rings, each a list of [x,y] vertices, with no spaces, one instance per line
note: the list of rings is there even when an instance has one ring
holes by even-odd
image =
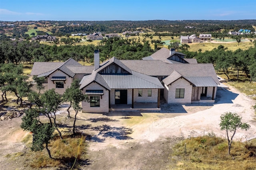
[[[82,78],[80,90],[90,103],[82,102],[83,112],[108,112],[111,106],[155,103],[160,97],[171,104],[213,103],[219,83],[212,64],[198,64],[196,59],[162,48],[143,60],[118,60],[100,64],[94,51],[94,66],[81,66],[73,59],[66,62],[35,62],[32,75],[44,76],[48,89],[63,94],[75,78]],[[51,63],[51,64],[50,64]],[[44,71],[43,71],[44,70]]]

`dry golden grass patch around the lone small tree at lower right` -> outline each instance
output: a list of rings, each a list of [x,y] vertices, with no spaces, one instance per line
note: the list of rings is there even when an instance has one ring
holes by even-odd
[[[233,142],[230,155],[226,140],[210,136],[184,140],[174,150],[175,156],[182,157],[176,164],[179,170],[253,170],[256,164],[256,141]]]

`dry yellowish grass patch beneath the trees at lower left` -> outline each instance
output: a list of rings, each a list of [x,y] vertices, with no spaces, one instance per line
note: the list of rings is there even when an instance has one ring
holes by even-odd
[[[83,138],[82,136],[77,136],[75,138],[64,136],[63,140],[56,139],[49,144],[49,149],[54,159],[49,158],[46,150],[43,152],[34,152],[34,159],[29,165],[32,168],[60,166],[62,168],[70,169],[75,160],[75,166],[78,165],[82,154],[84,154],[86,150],[86,146],[87,144],[84,136]]]

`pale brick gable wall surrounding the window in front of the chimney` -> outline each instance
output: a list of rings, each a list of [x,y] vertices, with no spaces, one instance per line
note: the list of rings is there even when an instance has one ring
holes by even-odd
[[[88,85],[86,88],[83,89],[84,94],[85,94],[86,90],[103,90],[104,95],[102,95],[102,98],[100,97],[100,107],[90,107],[90,103],[82,102],[82,112],[86,112],[86,113],[108,112],[109,91],[95,82],[91,83],[90,85]],[[97,96],[97,95],[95,95],[95,96]],[[89,98],[90,98],[90,96],[89,96]]]

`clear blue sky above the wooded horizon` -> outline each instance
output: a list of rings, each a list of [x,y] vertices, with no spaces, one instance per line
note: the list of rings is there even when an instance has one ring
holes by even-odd
[[[247,19],[256,0],[0,0],[0,21]]]

